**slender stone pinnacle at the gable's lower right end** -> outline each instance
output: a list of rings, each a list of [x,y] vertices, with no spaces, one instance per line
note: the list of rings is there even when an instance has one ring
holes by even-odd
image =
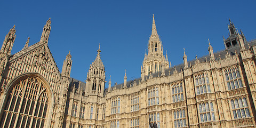
[[[68,52],[66,59],[63,61],[61,76],[62,77],[70,77],[70,71],[72,66],[71,54]]]

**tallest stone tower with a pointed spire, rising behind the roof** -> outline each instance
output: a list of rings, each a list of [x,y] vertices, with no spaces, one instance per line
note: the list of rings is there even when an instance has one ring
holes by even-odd
[[[163,66],[162,63],[164,63]],[[169,62],[165,59],[163,54],[162,42],[156,31],[155,17],[153,14],[151,35],[148,41],[148,54],[145,54],[141,71],[145,71],[145,75],[149,75],[150,73],[153,74],[161,71],[162,68],[166,69],[169,67]]]

